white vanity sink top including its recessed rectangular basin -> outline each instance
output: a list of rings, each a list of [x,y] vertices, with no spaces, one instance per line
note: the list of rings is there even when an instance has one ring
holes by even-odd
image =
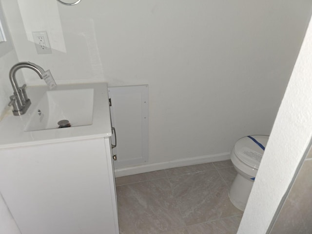
[[[106,83],[28,86],[26,92],[27,112],[14,116],[8,110],[0,119],[0,149],[112,136]],[[62,119],[72,127],[58,128]]]

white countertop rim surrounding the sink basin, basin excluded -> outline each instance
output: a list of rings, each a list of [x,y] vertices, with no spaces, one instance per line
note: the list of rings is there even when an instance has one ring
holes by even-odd
[[[32,102],[27,112],[22,116],[13,116],[12,111],[10,111],[0,120],[0,149],[112,136],[106,83],[62,84],[53,90],[86,88],[94,89],[93,122],[91,125],[24,132],[31,113],[35,110],[43,94],[49,90],[47,86],[27,87],[26,93]]]

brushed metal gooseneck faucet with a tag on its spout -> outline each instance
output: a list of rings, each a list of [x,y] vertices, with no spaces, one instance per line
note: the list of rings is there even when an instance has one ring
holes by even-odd
[[[13,115],[15,116],[20,116],[20,115],[25,114],[28,107],[31,104],[30,99],[27,97],[27,94],[26,94],[26,90],[25,90],[26,84],[19,87],[15,78],[15,73],[20,68],[30,68],[34,70],[39,75],[40,79],[43,79],[42,74],[44,73],[44,70],[40,66],[31,62],[19,62],[11,68],[9,76],[10,76],[10,81],[11,81],[14,93],[10,97],[11,101],[9,103],[9,106],[11,105],[13,106]]]

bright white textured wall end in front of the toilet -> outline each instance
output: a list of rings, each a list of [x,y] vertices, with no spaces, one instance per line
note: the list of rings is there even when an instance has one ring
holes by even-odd
[[[312,137],[312,23],[275,119],[238,234],[265,234]]]

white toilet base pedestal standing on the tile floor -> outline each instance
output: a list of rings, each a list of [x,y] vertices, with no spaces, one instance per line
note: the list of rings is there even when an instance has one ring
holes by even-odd
[[[237,174],[229,191],[230,201],[237,209],[245,210],[253,185],[254,181]]]

